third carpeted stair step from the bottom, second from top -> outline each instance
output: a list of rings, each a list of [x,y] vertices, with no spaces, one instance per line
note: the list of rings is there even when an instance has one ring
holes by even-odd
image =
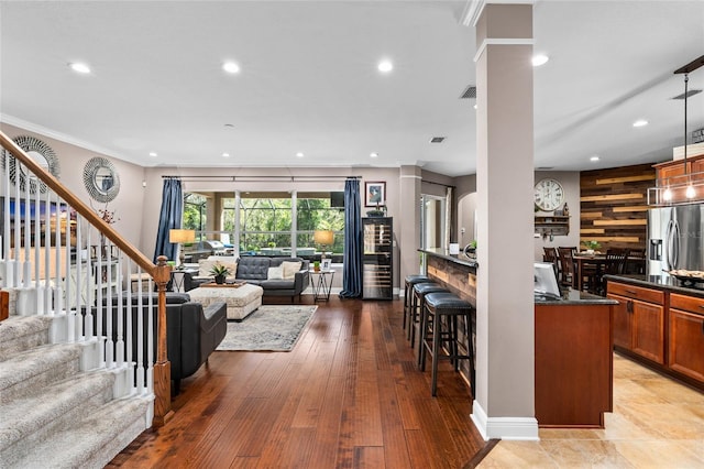
[[[41,392],[76,374],[82,348],[80,343],[40,346],[0,362],[0,403]]]

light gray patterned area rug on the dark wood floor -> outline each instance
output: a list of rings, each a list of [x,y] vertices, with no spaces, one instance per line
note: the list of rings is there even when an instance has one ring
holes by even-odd
[[[217,350],[289,351],[318,306],[265,305],[242,321],[228,321]]]

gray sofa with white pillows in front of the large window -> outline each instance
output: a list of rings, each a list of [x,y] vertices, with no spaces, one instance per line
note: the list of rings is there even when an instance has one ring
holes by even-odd
[[[270,268],[282,268],[283,263],[300,262],[300,268],[293,273],[293,276],[284,279],[270,279]],[[237,282],[246,282],[260,285],[264,288],[264,296],[290,296],[292,301],[296,296],[300,301],[300,295],[310,285],[308,274],[309,261],[300,258],[270,258],[265,255],[243,255],[238,261],[235,273]],[[287,264],[286,266],[293,266]]]

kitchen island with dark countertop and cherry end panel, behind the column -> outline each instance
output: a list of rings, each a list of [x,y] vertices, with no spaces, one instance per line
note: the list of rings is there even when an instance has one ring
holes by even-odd
[[[474,259],[443,250],[419,251],[426,257],[428,276],[476,305],[480,266]],[[563,292],[560,298],[535,297],[536,419],[540,427],[604,427],[604,413],[613,410],[612,309],[617,304],[575,290]],[[475,325],[473,315],[473,347]]]

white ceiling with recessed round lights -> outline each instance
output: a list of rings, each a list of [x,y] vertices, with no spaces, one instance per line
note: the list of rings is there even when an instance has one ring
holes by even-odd
[[[1,1],[0,114],[143,166],[471,174],[465,3]],[[534,50],[551,58],[535,70],[536,167],[663,161],[683,144],[684,105],[670,98],[684,83],[672,72],[704,55],[704,1],[537,1],[534,21]],[[224,74],[226,59],[241,73]],[[67,67],[78,61],[92,73]],[[704,88],[704,67],[690,88]],[[704,127],[704,92],[688,118],[690,131]],[[430,144],[436,135],[447,140]]]

